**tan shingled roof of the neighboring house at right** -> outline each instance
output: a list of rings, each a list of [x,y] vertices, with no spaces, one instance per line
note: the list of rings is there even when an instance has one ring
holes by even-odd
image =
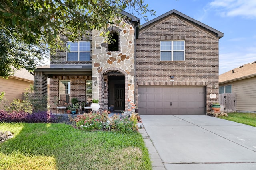
[[[256,76],[256,61],[244,64],[219,76],[219,83],[232,82]]]

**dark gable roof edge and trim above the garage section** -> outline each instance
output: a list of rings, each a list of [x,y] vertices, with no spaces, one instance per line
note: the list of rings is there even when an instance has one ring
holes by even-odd
[[[201,23],[201,22],[199,22],[199,21],[197,21],[197,20],[195,20],[195,19],[193,19],[189,16],[186,16],[185,14],[182,14],[181,12],[178,12],[177,10],[171,10],[169,12],[166,12],[165,14],[162,14],[161,16],[158,16],[157,18],[155,18],[151,21],[148,21],[147,23],[144,23],[143,25],[141,25],[140,29],[143,29],[145,27],[148,27],[148,26],[160,21],[160,20],[163,20],[164,18],[166,18],[166,17],[168,17],[172,14],[174,14],[174,15],[176,15],[176,16],[178,16],[178,17],[180,17],[180,18],[182,18],[182,19],[184,19],[184,20],[186,20],[190,23],[193,23],[194,25],[196,25],[198,27],[201,27],[202,29],[206,29],[206,30],[214,33],[217,37],[219,37],[219,39],[221,37],[223,37],[223,35],[224,35],[222,32],[220,32],[220,31],[218,31],[218,30],[216,30],[212,27],[209,27],[208,25],[205,25],[204,23]]]

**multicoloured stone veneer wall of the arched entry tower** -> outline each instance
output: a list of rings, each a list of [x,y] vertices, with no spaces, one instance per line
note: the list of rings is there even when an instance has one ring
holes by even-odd
[[[107,105],[104,99],[104,75],[111,71],[124,74],[126,100],[134,100],[134,24],[124,18],[120,25],[111,25],[108,30],[119,33],[119,51],[108,51],[108,44],[102,43],[104,37],[100,36],[99,31],[92,31],[92,95],[100,99],[101,106]],[[98,83],[94,84],[96,80]]]

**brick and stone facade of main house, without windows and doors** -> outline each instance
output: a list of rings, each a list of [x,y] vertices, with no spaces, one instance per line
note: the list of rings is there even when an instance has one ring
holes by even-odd
[[[88,65],[92,69],[90,74],[73,74],[71,71],[66,74],[49,73],[51,111],[56,112],[54,102],[59,98],[60,80],[71,81],[70,98],[76,97],[80,102],[86,98],[86,80],[92,80],[92,98],[100,99],[101,110],[108,109],[109,76],[125,77],[125,110],[128,109],[127,99],[138,105],[139,86],[204,86],[206,111],[210,111],[211,104],[218,102],[218,42],[223,34],[180,12],[172,11],[142,25],[139,35],[136,34],[139,21],[136,17],[136,21],[132,17],[124,17],[120,24],[109,25],[106,31],[118,34],[118,51],[108,51],[108,44],[100,31],[88,31],[80,41],[91,42],[90,61],[67,61],[66,51],[57,49],[50,57],[50,69],[83,68]],[[61,40],[66,46],[68,39],[62,36]],[[160,61],[160,41],[164,40],[185,41],[185,60]],[[38,86],[38,95],[42,96],[45,89],[39,84],[44,82],[46,76],[39,69],[35,73],[35,86]],[[170,76],[174,76],[174,81],[170,81]],[[216,98],[210,98],[210,94],[216,94]]]

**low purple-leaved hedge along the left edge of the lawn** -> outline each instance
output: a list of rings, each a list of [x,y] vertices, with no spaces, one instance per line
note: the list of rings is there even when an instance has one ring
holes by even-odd
[[[0,122],[49,123],[55,120],[56,117],[50,111],[38,111],[30,114],[25,111],[0,110]]]

